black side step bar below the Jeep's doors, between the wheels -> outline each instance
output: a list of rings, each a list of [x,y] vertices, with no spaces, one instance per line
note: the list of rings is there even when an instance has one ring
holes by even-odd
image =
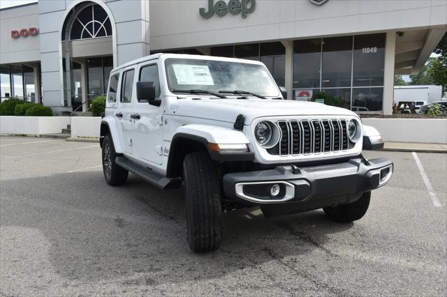
[[[115,162],[120,167],[123,167],[127,171],[132,172],[136,176],[140,176],[140,178],[149,183],[152,183],[152,185],[155,185],[161,190],[177,189],[180,188],[180,186],[182,185],[182,180],[180,178],[166,178],[151,169],[147,169],[135,164],[135,162],[132,162],[124,156],[117,156],[115,158]]]

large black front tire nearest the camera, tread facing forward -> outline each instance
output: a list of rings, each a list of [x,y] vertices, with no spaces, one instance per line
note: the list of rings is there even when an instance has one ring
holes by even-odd
[[[207,153],[189,153],[183,161],[188,243],[193,252],[219,248],[222,240],[221,188]]]

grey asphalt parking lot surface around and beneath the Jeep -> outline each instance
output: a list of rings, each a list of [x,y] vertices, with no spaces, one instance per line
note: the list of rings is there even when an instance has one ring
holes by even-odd
[[[98,144],[0,137],[0,296],[444,296],[447,154],[365,155],[395,173],[362,220],[242,209],[193,254],[182,190],[108,186]]]

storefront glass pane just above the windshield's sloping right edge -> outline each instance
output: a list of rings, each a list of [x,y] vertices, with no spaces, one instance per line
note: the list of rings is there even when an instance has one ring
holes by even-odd
[[[286,49],[281,43],[261,43],[261,62],[267,66],[278,86],[285,86]]]

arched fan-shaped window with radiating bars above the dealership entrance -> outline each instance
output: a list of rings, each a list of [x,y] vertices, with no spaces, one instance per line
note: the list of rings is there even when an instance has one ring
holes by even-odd
[[[112,36],[110,19],[98,4],[83,8],[71,26],[70,40]]]

